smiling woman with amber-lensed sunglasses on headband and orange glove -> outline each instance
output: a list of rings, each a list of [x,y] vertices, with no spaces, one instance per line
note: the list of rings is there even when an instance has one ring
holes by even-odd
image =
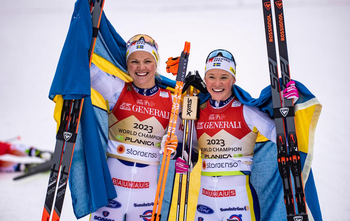
[[[108,205],[97,209],[91,220],[102,219],[106,212],[109,220],[122,221],[125,216],[127,220],[140,220],[141,216],[151,216],[154,205],[159,151],[169,123],[172,96],[155,81],[159,61],[155,41],[147,35],[136,35],[126,47],[132,82],[125,83],[91,65],[91,87],[102,95],[109,109],[106,155],[118,195],[109,204],[119,205],[113,210]],[[175,134],[182,140],[180,129]]]

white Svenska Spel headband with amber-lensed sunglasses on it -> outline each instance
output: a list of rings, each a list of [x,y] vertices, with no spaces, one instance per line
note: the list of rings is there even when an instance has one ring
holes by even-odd
[[[154,57],[158,66],[158,44],[153,40],[153,38],[149,37],[148,35],[135,35],[134,37],[130,38],[126,45],[126,61],[133,52],[146,51]]]

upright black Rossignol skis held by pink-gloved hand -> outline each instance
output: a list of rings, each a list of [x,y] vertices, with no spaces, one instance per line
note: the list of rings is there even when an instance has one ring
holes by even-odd
[[[272,4],[270,0],[262,0],[273,111],[276,124],[278,168],[283,183],[287,221],[308,221],[303,188],[302,168],[295,130],[293,101],[290,99],[284,99],[285,107],[282,107],[273,29],[273,13],[271,7]],[[278,24],[278,48],[282,75],[282,89],[284,90],[286,89],[286,84],[290,81],[290,75],[282,0],[274,0],[274,10],[276,24]],[[285,126],[287,131],[285,130]],[[289,154],[287,151],[286,137],[288,141]],[[290,170],[292,171],[294,177],[295,199],[299,214],[296,214],[295,212]]]

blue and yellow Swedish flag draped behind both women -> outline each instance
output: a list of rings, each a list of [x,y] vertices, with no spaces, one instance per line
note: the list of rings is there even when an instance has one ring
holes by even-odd
[[[62,99],[85,99],[69,177],[73,210],[78,219],[107,205],[108,201],[117,197],[118,194],[114,190],[105,158],[108,138],[106,103],[100,94],[90,88],[87,52],[91,36],[92,24],[89,3],[87,0],[77,0],[49,98],[56,102],[54,118],[58,124]],[[103,13],[92,62],[107,73],[116,75],[125,81],[131,81],[131,77],[126,74],[125,45],[126,42],[119,36]],[[175,81],[165,77],[158,80],[161,87],[174,92]],[[300,99],[295,105],[295,116],[306,202],[309,217],[312,216],[314,220],[320,221],[322,217],[311,172],[311,161],[314,131],[321,105],[306,87],[300,83],[297,83],[296,86],[300,92]],[[235,86],[233,90],[243,104],[258,106],[266,113],[273,113],[269,86],[262,90],[258,99],[251,98],[238,86]],[[199,95],[202,102],[209,98],[208,94],[200,93]],[[254,152],[251,181],[258,193],[261,220],[286,220],[282,182],[276,162],[276,145],[265,137],[258,136]],[[196,209],[200,185],[198,182],[200,169],[198,168],[195,167],[191,173],[189,220],[194,220]],[[174,164],[170,163],[162,220],[173,220],[173,206],[170,213],[169,211],[172,199],[177,198],[176,187],[174,188],[175,194],[173,194],[173,185],[177,184],[175,178]]]

